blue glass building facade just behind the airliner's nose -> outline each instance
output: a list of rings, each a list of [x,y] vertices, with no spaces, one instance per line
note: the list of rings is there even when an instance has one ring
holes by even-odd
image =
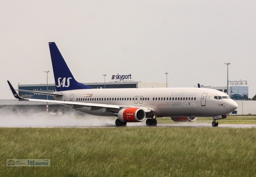
[[[231,87],[233,100],[248,100],[248,87]]]

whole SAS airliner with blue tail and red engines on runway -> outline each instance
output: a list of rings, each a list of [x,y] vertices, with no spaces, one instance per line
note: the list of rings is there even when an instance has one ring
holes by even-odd
[[[96,115],[116,116],[116,126],[127,122],[141,122],[156,126],[156,118],[171,117],[174,121],[194,121],[197,117],[226,118],[238,105],[229,96],[215,89],[205,88],[137,88],[137,89],[92,89],[74,78],[57,45],[49,42],[56,90],[45,93],[55,100],[27,99],[17,94],[9,81],[15,98],[64,104],[70,109]]]

